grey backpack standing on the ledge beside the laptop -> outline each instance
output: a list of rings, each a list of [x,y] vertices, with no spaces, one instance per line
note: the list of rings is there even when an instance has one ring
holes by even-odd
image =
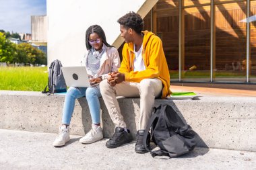
[[[48,85],[44,88],[42,93],[51,95],[53,93],[61,93],[67,91],[67,85],[61,71],[61,61],[54,60],[49,67]],[[46,91],[48,87],[48,91]]]

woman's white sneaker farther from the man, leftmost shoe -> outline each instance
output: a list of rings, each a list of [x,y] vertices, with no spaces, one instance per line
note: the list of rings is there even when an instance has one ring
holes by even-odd
[[[65,128],[65,126],[61,126],[59,127],[59,136],[57,136],[53,142],[53,146],[63,146],[69,140],[69,126],[67,126],[67,128]]]

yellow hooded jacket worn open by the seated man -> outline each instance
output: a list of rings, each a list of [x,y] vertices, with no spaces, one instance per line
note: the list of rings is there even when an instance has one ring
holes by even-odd
[[[170,95],[170,74],[162,48],[162,41],[152,32],[144,31],[142,56],[146,70],[133,71],[135,54],[133,43],[125,43],[123,46],[123,60],[120,73],[125,73],[125,81],[139,83],[142,79],[158,78],[162,81],[162,98]]]

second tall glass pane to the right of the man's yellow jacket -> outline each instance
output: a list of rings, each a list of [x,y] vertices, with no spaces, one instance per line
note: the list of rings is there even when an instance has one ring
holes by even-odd
[[[185,8],[183,81],[210,81],[210,5]]]

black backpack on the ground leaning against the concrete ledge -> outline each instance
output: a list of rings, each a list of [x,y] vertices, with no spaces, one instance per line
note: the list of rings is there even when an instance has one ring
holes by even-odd
[[[146,145],[150,127],[152,140],[160,147],[157,151],[150,151]],[[152,117],[143,135],[143,145],[152,157],[179,157],[193,150],[196,144],[195,134],[170,105],[160,105],[153,109]]]

